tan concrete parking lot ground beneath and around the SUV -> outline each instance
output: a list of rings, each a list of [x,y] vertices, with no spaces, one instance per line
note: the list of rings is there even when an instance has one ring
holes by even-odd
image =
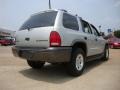
[[[0,46],[0,90],[120,90],[120,49],[110,49],[107,62],[87,63],[82,76],[71,77],[61,65],[33,70]]]

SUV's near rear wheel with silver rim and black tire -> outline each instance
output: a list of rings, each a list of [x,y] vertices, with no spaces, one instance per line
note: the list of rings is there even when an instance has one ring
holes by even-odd
[[[72,76],[80,76],[85,67],[85,53],[82,49],[77,48],[72,53],[71,61],[67,65],[68,73]]]

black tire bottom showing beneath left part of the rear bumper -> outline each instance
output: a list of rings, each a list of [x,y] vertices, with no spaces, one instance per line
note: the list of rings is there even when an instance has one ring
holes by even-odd
[[[34,69],[40,69],[44,66],[45,62],[40,62],[40,61],[30,61],[27,60],[27,63],[30,67],[34,68]]]

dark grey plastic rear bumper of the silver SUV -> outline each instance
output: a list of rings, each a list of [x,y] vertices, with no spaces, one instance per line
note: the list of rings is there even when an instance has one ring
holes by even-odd
[[[13,55],[34,61],[45,62],[68,62],[71,57],[71,47],[50,47],[50,48],[23,48],[12,47]]]

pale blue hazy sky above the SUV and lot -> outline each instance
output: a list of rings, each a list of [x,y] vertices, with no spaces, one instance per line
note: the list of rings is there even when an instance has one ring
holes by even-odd
[[[48,10],[49,0],[0,0],[0,28],[18,30],[31,14]],[[120,0],[51,0],[52,9],[77,14],[101,30],[120,28]]]

